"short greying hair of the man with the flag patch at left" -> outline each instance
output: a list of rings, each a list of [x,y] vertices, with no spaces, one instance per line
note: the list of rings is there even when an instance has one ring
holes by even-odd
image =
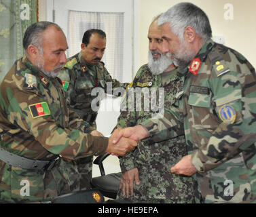
[[[26,50],[31,44],[41,48],[41,33],[50,26],[55,26],[58,30],[62,31],[60,26],[58,26],[54,22],[48,21],[35,22],[31,24],[31,26],[26,28],[26,32],[23,37],[24,50]]]

